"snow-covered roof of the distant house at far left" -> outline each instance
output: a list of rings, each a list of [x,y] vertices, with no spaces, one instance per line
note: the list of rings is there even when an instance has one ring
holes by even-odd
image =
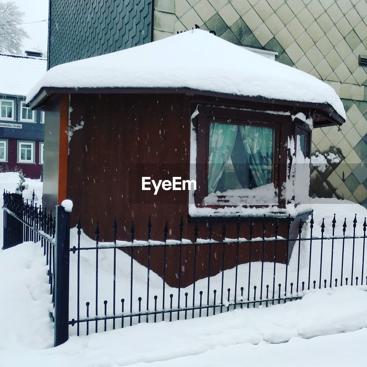
[[[47,71],[47,59],[0,54],[0,93],[26,96]]]

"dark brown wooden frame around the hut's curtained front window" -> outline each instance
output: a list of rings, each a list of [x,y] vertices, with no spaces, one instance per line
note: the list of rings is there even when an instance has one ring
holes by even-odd
[[[237,124],[242,126],[258,126],[258,127],[270,127],[274,131],[274,147],[273,147],[273,172],[272,182],[274,189],[278,189],[278,206],[281,205],[281,186],[286,179],[286,173],[281,172],[281,158],[283,160],[287,157],[287,147],[281,146],[281,135],[284,139],[284,131],[281,130],[282,120],[287,122],[291,121],[289,115],[275,115],[260,111],[247,111],[237,109],[226,109],[216,107],[204,107],[199,108],[199,114],[196,121],[196,177],[197,177],[197,190],[195,191],[195,205],[197,207],[210,207],[210,208],[222,208],[225,206],[231,206],[223,202],[223,205],[205,205],[204,199],[208,196],[208,172],[209,172],[209,140],[210,140],[210,123],[228,123]],[[194,122],[194,121],[193,121]],[[195,126],[195,124],[194,124]],[[283,144],[284,145],[284,144]],[[205,168],[204,168],[205,167]],[[221,196],[219,196],[221,197]],[[224,197],[224,195],[223,195]],[[247,207],[244,205],[243,207]],[[251,207],[263,207],[263,205]]]

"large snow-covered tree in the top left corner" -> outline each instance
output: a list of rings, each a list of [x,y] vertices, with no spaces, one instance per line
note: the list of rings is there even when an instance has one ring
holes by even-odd
[[[23,15],[14,2],[0,2],[0,52],[21,54],[22,41],[29,38],[26,31],[19,26]]]

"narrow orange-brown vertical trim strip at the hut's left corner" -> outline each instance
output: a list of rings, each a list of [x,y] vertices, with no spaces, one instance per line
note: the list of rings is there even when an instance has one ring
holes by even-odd
[[[69,95],[60,98],[60,138],[59,138],[59,189],[57,203],[66,199],[68,174],[68,135],[69,135]]]

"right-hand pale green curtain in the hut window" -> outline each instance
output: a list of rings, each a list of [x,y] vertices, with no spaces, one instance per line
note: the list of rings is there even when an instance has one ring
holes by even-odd
[[[240,126],[242,141],[247,153],[249,169],[255,187],[271,182],[273,158],[273,129],[267,127]]]

